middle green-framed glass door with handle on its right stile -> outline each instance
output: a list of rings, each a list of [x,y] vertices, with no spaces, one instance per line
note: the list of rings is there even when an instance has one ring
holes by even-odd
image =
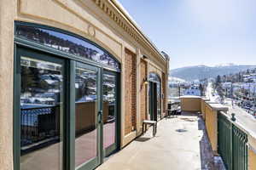
[[[102,157],[101,70],[76,62],[75,65],[75,142],[76,169],[93,169]]]

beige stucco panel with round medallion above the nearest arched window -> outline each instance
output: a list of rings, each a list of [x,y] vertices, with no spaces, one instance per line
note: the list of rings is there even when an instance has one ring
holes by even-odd
[[[49,0],[44,2],[47,9],[37,10],[37,7],[42,6],[42,2],[31,2],[33,2],[33,0],[19,0],[17,8],[18,18],[16,20],[71,31],[92,42],[96,42],[96,44],[106,49],[110,54],[113,54],[116,59],[121,60],[122,44],[109,36],[101,27],[97,27],[88,20],[86,13],[84,13],[84,7],[79,9],[78,7],[80,6],[70,0]],[[56,14],[51,15],[53,11],[55,11]],[[66,17],[63,18],[62,16],[64,14],[66,14]]]

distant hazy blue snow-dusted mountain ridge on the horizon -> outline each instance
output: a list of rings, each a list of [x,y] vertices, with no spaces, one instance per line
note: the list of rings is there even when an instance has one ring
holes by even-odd
[[[195,65],[182,68],[173,69],[170,71],[171,77],[181,78],[186,81],[200,80],[203,78],[217,77],[218,75],[228,75],[239,71],[246,71],[247,69],[256,68],[256,65]]]

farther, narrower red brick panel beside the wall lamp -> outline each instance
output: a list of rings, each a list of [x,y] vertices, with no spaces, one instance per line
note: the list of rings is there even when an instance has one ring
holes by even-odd
[[[148,75],[148,68],[147,68],[147,62],[143,59],[140,61],[141,65],[141,71],[140,71],[140,114],[141,114],[141,122],[143,120],[147,119],[147,89],[148,85],[144,84],[143,79],[147,78]]]

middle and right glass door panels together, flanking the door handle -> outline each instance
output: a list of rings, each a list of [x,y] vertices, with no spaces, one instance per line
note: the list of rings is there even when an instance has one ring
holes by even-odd
[[[92,169],[117,149],[118,75],[76,62],[75,166]]]

